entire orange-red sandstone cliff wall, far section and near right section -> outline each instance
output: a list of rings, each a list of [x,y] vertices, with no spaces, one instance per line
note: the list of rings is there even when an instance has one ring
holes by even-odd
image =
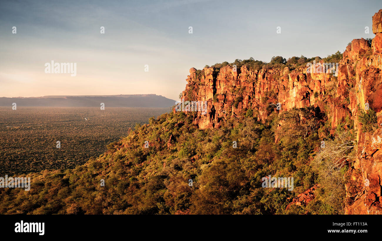
[[[293,71],[288,67],[260,71],[246,66],[191,68],[182,98],[207,101],[207,114],[188,114],[194,115],[199,128],[206,129],[219,128],[220,122],[240,117],[247,109],[265,122],[272,112],[314,106],[331,119],[331,134],[345,118],[354,120],[358,156],[349,170],[345,213],[382,214],[382,10],[372,20],[376,36],[371,47],[365,39],[354,39],[343,53],[337,76],[317,73],[314,66]],[[363,132],[358,121],[366,103],[377,112],[380,128],[374,134]]]

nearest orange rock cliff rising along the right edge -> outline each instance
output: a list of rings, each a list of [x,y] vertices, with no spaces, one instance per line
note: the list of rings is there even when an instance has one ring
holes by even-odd
[[[382,214],[382,10],[373,16],[372,54],[359,55],[346,48],[344,62],[354,67],[356,90],[351,101],[354,129],[357,130],[358,155],[354,168],[349,170],[351,181],[346,185],[348,203],[345,214]],[[357,40],[353,40],[356,42]],[[352,46],[353,46],[352,42]],[[357,43],[358,44],[358,43]],[[358,46],[361,45],[357,45]],[[369,51],[369,52],[368,52]],[[346,57],[346,58],[345,58]],[[358,122],[365,103],[377,112],[378,129],[373,133],[363,132]],[[357,106],[357,104],[359,104]]]

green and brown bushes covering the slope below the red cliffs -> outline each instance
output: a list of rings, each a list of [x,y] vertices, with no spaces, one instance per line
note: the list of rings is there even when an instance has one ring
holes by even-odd
[[[163,114],[147,125],[137,124],[97,159],[75,169],[33,174],[30,191],[1,188],[0,213],[343,213],[337,202],[286,210],[291,198],[322,178],[311,165],[319,129],[326,128],[318,118],[313,108],[291,109],[280,116],[273,112],[266,124],[247,115],[227,120],[220,129],[200,130],[190,115]],[[286,131],[291,127],[293,135]],[[268,175],[293,177],[294,190],[263,188],[261,179]],[[328,200],[332,193],[322,190],[320,195]]]

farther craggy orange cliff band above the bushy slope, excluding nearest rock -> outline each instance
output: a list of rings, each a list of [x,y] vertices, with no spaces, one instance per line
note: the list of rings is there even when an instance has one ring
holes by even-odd
[[[356,56],[357,53],[364,53],[366,47],[363,44],[363,41],[354,43],[348,54]],[[318,66],[317,63],[317,70]],[[263,122],[274,111],[282,112],[294,107],[314,106],[324,111],[323,101],[328,99],[328,88],[337,88],[338,93],[330,93],[329,98],[329,115],[333,115],[334,132],[338,120],[345,119],[351,113],[347,107],[349,103],[345,101],[350,80],[337,82],[335,75],[319,73],[313,68],[300,67],[293,71],[288,67],[254,71],[244,65],[237,69],[229,65],[220,69],[191,68],[182,100],[207,101],[207,114],[201,111],[189,114],[195,115],[194,123],[201,129],[218,128],[219,122],[242,116],[248,109],[253,110],[253,116]],[[339,69],[346,77],[355,74],[347,66],[340,66]]]

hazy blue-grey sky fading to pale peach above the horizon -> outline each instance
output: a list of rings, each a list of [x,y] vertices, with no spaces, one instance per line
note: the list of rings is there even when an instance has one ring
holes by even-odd
[[[353,39],[374,38],[371,17],[380,8],[380,0],[1,0],[0,96],[154,93],[178,100],[191,67],[325,57]],[[76,63],[77,75],[46,74],[52,60]]]

